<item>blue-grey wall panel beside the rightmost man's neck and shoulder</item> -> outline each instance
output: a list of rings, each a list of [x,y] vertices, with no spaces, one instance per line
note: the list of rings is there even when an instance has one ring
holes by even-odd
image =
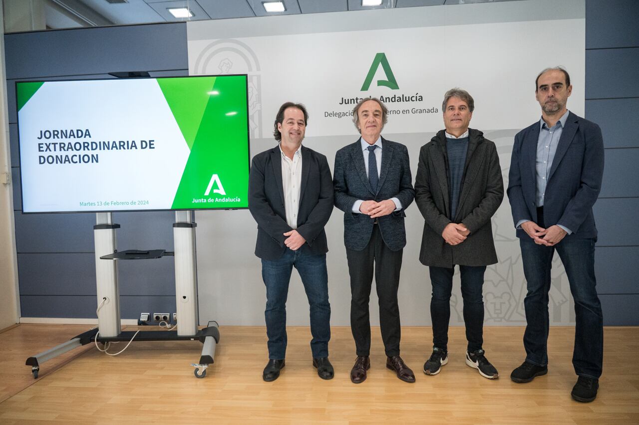
[[[622,124],[633,123],[638,111],[639,98],[586,101],[586,119],[601,127],[604,147],[639,147],[635,126]]]

